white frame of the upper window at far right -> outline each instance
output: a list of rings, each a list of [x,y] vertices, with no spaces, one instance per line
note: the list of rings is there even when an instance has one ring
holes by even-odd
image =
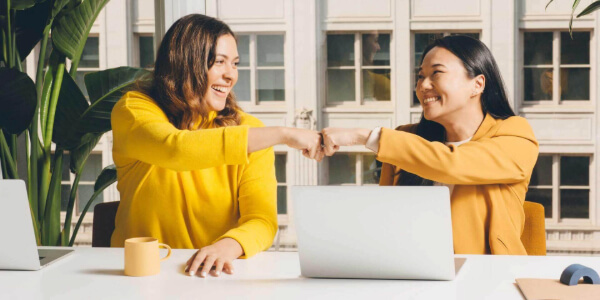
[[[525,33],[529,32],[551,32],[552,33],[552,65],[525,65],[524,61],[524,53],[525,53]],[[556,28],[544,28],[544,29],[527,29],[523,28],[519,31],[519,44],[520,51],[518,53],[518,76],[520,78],[517,79],[518,84],[518,99],[520,106],[527,111],[528,109],[544,109],[544,108],[573,108],[573,107],[583,107],[583,108],[592,108],[596,103],[596,46],[595,46],[595,37],[594,37],[594,29],[593,28],[578,28],[573,29],[573,32],[589,32],[590,33],[590,63],[589,64],[561,64],[560,56],[561,56],[561,40],[560,34],[563,32],[568,32],[567,29],[556,29]],[[558,80],[552,80],[552,99],[551,100],[525,100],[525,68],[552,68],[552,77],[558,78]],[[561,68],[589,68],[590,69],[590,99],[588,100],[561,100],[560,99],[560,70]]]

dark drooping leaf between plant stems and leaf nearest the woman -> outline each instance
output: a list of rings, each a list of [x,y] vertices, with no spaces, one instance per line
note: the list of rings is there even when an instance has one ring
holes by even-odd
[[[80,146],[83,133],[78,130],[79,120],[89,104],[83,93],[69,74],[63,76],[60,87],[52,141],[58,146],[71,150]]]

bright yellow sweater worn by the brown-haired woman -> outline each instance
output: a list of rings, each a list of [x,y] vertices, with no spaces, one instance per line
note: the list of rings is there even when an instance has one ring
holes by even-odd
[[[244,256],[267,249],[277,232],[273,148],[247,154],[249,127],[179,130],[148,96],[128,92],[115,105],[113,159],[121,203],[111,246],[152,236],[173,248],[201,248],[222,238]]]

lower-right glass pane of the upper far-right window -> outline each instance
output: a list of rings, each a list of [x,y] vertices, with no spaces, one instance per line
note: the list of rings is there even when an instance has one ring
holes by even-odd
[[[590,69],[589,68],[562,68],[561,100],[589,100],[590,99]]]

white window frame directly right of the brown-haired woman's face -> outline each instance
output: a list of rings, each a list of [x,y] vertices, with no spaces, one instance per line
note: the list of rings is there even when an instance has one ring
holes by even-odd
[[[257,36],[259,35],[280,35],[283,36],[283,66],[262,66],[259,67],[258,66],[258,57],[257,57]],[[287,90],[287,85],[288,85],[288,76],[287,76],[287,69],[288,68],[288,63],[287,63],[287,43],[288,43],[288,38],[287,38],[287,34],[285,31],[266,31],[266,32],[243,32],[243,31],[238,31],[236,32],[236,36],[248,36],[249,37],[249,43],[248,43],[248,47],[250,47],[249,52],[248,52],[248,56],[250,58],[250,61],[248,62],[248,66],[238,66],[237,70],[238,70],[238,76],[239,76],[239,71],[250,71],[250,100],[239,100],[236,99],[236,103],[242,107],[242,109],[247,110],[247,111],[257,111],[260,109],[264,109],[264,108],[275,108],[275,109],[280,109],[285,111],[285,109],[287,108],[287,103],[289,102],[288,99],[290,98],[290,93]],[[273,101],[259,101],[258,100],[258,71],[259,70],[283,70],[283,74],[284,74],[284,86],[283,86],[283,90],[285,93],[285,99],[284,100],[273,100]],[[238,77],[239,78],[239,77]]]

